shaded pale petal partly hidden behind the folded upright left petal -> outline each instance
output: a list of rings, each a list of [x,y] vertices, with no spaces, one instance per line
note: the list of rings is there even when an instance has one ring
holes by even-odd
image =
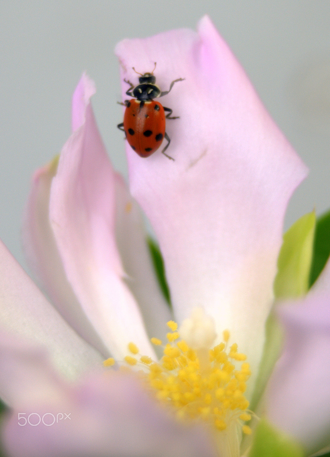
[[[106,358],[109,356],[108,350],[86,318],[67,280],[50,226],[50,186],[56,175],[57,165],[58,158],[55,158],[53,162],[37,170],[33,176],[22,231],[24,251],[37,282],[59,313]]]

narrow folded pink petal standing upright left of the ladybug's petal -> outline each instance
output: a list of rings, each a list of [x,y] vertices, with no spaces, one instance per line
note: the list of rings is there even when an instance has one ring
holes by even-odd
[[[102,342],[117,360],[134,341],[154,356],[126,284],[116,245],[115,173],[90,103],[61,152],[50,192],[50,223],[64,271]]]

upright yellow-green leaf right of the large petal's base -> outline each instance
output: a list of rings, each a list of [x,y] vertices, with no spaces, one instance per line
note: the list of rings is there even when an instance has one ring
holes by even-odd
[[[315,223],[313,211],[298,219],[284,234],[274,282],[276,298],[298,298],[308,291]]]

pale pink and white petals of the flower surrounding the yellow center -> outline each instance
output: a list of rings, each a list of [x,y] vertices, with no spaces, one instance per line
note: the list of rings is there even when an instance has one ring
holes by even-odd
[[[124,40],[116,53],[122,79],[134,80],[132,67],[150,71],[154,62],[164,90],[185,78],[164,97],[180,116],[167,125],[175,161],[159,152],[141,159],[127,146],[129,193],[106,155],[90,105],[95,88],[83,75],[73,133],[59,162],[37,170],[27,204],[25,247],[49,301],[0,245],[0,397],[11,407],[3,434],[11,456],[217,455],[207,429],[177,423],[133,376],[102,366],[110,355],[122,360],[130,341],[156,359],[149,338],[164,338],[172,317],[138,204],[160,244],[176,321],[202,307],[217,335],[230,330],[250,362],[248,398],[260,366],[284,213],[306,168],[207,16],[197,33]],[[296,403],[316,379],[306,371],[312,363],[320,390],[329,383],[328,365],[320,362],[330,351],[328,324],[320,319],[328,314],[328,271],[301,308],[283,308],[288,346],[268,400],[271,419],[309,450],[330,442],[330,399],[322,403],[313,391],[295,404],[297,414],[312,414],[315,404],[322,411],[317,427],[304,422],[303,436],[293,426],[297,415],[282,421],[282,412],[295,373],[303,382],[295,386]],[[18,414],[34,413],[70,419],[20,425]]]

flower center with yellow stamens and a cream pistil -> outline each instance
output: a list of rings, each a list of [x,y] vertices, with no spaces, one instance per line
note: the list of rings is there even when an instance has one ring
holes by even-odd
[[[175,322],[168,322],[171,331],[166,335],[165,345],[158,338],[151,338],[154,345],[163,346],[164,355],[158,362],[139,354],[134,343],[129,343],[131,355],[124,360],[129,366],[143,367],[139,374],[147,388],[179,420],[206,422],[224,435],[223,441],[230,448],[237,448],[237,452],[222,449],[223,454],[239,455],[242,432],[251,433],[250,427],[244,425],[251,419],[249,402],[244,396],[250,366],[245,362],[245,354],[238,352],[237,344],[228,347],[228,330],[223,332],[223,342],[210,349],[216,337],[210,319],[203,311],[195,310],[183,322],[180,333]],[[104,365],[114,363],[110,358]]]

